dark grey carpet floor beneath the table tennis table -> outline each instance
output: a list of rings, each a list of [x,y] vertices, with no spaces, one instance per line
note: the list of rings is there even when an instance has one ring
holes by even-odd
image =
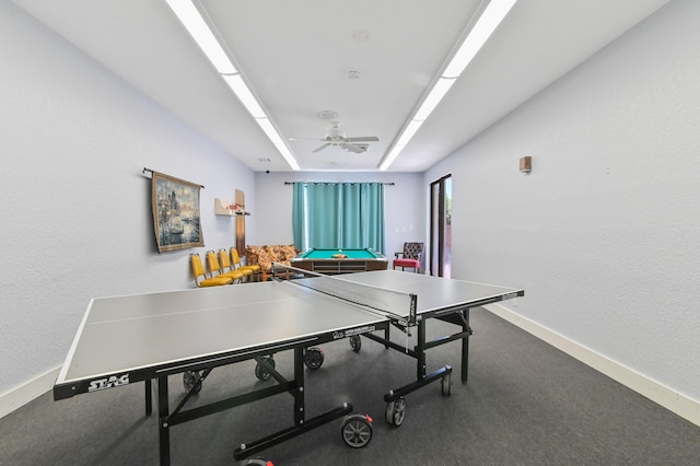
[[[485,310],[472,311],[471,326],[468,383],[456,370],[452,396],[440,383],[408,395],[399,428],[384,420],[383,396],[415,380],[415,360],[368,339],[359,353],[347,340],[325,345],[323,366],[306,370],[306,417],[350,401],[373,417],[372,441],[348,447],[338,419],[258,456],[278,466],[700,464],[700,427]],[[432,336],[450,331],[429,327]],[[276,361],[291,377],[291,353]],[[430,350],[428,371],[444,364],[459,366],[458,342]],[[191,401],[271,384],[254,365],[215,370]],[[173,377],[172,403],[180,386]],[[292,398],[282,394],[173,427],[172,464],[235,464],[236,446],[292,420]],[[143,413],[143,384],[60,401],[48,393],[0,419],[0,465],[156,464],[156,416]]]

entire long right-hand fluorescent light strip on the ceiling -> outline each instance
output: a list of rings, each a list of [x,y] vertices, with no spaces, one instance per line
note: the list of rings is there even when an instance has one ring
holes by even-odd
[[[418,110],[413,114],[411,121],[406,125],[406,128],[401,131],[389,153],[387,153],[384,160],[380,163],[381,171],[387,170],[394,160],[396,160],[399,152],[404,150],[423,121],[433,113],[438,104],[440,104],[447,94],[447,91],[450,91],[452,85],[457,81],[459,74],[462,74],[469,62],[471,62],[471,59],[476,57],[481,47],[483,47],[483,44],[486,44],[491,34],[493,34],[499,24],[501,24],[516,1],[517,0],[489,1],[489,4],[483,10],[469,34],[467,34],[467,37],[452,57],[450,63],[447,63],[445,71],[441,74],[441,78],[435,82],[423,102],[421,102],[420,107],[418,107]]]

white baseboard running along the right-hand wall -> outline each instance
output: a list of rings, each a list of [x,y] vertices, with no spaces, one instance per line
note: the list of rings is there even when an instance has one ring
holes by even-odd
[[[598,372],[607,375],[621,383],[622,385],[633,389],[640,395],[645,396],[664,408],[675,412],[684,419],[689,420],[696,426],[700,426],[700,403],[688,398],[672,388],[651,380],[625,365],[621,365],[594,350],[586,348],[562,335],[552,331],[547,327],[523,317],[514,313],[501,304],[489,304],[483,306],[491,313],[510,322],[516,327],[532,334],[542,341],[548,342],[567,354],[578,359],[584,364],[590,365]]]

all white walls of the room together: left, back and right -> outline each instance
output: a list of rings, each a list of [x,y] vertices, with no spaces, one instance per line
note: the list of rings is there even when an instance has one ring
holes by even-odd
[[[145,166],[206,186],[207,248],[233,242],[212,205],[235,188],[271,244],[292,240],[285,180],[394,182],[389,256],[427,241],[427,185],[452,173],[455,278],[523,287],[514,313],[700,400],[699,19],[670,2],[424,175],[253,174],[0,1],[0,397],[62,362],[90,298],[191,287],[190,251],[156,253]]]

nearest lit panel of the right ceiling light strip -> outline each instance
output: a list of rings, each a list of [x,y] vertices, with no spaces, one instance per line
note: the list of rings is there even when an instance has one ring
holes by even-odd
[[[469,32],[469,35],[467,35],[467,38],[462,43],[462,46],[442,73],[444,78],[457,78],[462,74],[516,1],[517,0],[491,0],[489,2]]]

